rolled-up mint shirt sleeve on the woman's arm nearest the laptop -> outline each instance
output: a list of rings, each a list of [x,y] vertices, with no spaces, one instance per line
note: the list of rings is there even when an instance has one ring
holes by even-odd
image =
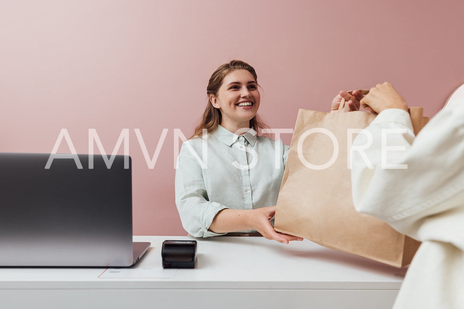
[[[182,226],[195,237],[224,235],[208,228],[216,214],[228,207],[208,200],[201,166],[186,148],[180,149],[175,173],[175,202]]]

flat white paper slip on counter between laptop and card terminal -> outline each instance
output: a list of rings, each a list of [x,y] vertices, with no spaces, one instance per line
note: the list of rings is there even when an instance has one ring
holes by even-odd
[[[99,278],[174,278],[177,268],[107,268]]]

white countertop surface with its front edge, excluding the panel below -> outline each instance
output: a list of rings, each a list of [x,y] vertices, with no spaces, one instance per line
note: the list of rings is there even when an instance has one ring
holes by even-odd
[[[407,268],[319,246],[264,237],[134,236],[151,247],[134,267],[161,266],[164,240],[197,240],[195,269],[174,278],[111,278],[105,268],[1,268],[0,289],[387,289],[399,290]],[[33,252],[31,252],[33,254]]]

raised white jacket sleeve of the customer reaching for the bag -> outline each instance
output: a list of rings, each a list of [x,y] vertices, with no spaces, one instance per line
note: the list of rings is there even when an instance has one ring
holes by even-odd
[[[404,133],[385,134],[385,129]],[[366,130],[373,137],[371,147],[365,156],[353,152],[354,207],[420,239],[417,233],[425,216],[458,207],[464,198],[464,104],[440,111],[416,138],[409,115],[400,109],[381,112]],[[384,140],[387,137],[384,163],[402,168],[382,167],[382,130]],[[366,145],[367,135],[359,134],[353,146]],[[404,151],[385,151],[386,146]]]

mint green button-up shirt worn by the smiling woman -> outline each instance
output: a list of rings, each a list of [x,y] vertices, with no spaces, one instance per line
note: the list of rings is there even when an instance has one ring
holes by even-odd
[[[195,237],[225,234],[208,231],[222,209],[276,205],[290,149],[281,139],[256,136],[253,129],[239,136],[218,126],[206,136],[182,144],[175,174],[180,220]]]

